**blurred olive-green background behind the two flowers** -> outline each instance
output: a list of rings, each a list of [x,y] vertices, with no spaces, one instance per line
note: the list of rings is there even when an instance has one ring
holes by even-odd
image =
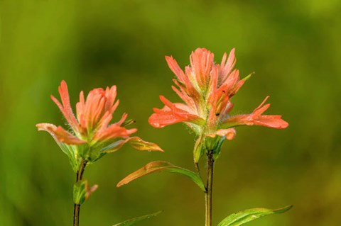
[[[242,76],[256,72],[232,99],[249,113],[270,95],[267,113],[286,130],[237,128],[215,167],[213,223],[246,208],[283,215],[249,225],[341,225],[341,1],[0,1],[0,225],[71,225],[75,175],[36,123],[64,125],[50,94],[67,81],[72,106],[81,90],[118,87],[115,120],[129,113],[137,135],[165,153],[129,146],[89,166],[99,188],[82,205],[80,225],[114,225],[164,210],[139,225],[204,225],[204,196],[175,174],[154,174],[116,188],[147,162],[194,169],[193,134],[183,125],[148,125],[158,95],[196,47],[220,62],[236,47]]]

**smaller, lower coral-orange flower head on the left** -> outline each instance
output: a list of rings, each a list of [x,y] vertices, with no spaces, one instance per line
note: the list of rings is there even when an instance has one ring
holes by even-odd
[[[38,130],[45,130],[53,136],[60,148],[70,158],[74,169],[79,166],[79,160],[85,159],[94,162],[104,154],[117,151],[126,142],[139,150],[162,151],[158,145],[141,140],[139,137],[129,137],[137,131],[136,128],[126,129],[131,124],[126,121],[127,114],[124,113],[117,123],[112,123],[112,114],[119,105],[117,87],[107,89],[93,89],[85,100],[83,91],[80,92],[80,101],[76,104],[75,117],[70,106],[70,98],[67,84],[62,81],[58,87],[61,102],[51,96],[52,100],[63,113],[70,131],[61,126],[50,123],[37,124]]]

